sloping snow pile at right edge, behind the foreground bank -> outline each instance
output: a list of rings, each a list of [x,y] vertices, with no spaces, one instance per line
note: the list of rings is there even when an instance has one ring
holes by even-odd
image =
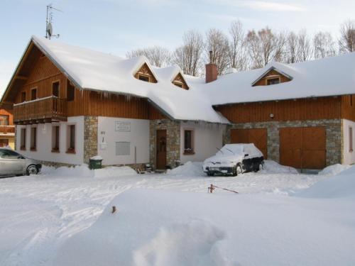
[[[297,195],[315,198],[355,197],[355,166],[334,177],[317,182]]]

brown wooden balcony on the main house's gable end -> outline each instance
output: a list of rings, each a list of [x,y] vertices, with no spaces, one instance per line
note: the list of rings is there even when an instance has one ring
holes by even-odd
[[[51,123],[67,121],[67,102],[56,96],[13,104],[13,121],[16,124]]]

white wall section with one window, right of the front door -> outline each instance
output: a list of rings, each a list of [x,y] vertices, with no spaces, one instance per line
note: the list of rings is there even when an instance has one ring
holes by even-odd
[[[202,162],[217,153],[217,148],[222,148],[223,131],[225,126],[212,123],[182,122],[180,126],[180,161]],[[192,129],[193,155],[184,155],[184,130]]]

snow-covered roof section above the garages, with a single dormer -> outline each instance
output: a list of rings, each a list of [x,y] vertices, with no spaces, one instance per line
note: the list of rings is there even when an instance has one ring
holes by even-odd
[[[292,80],[253,87],[268,70]],[[355,94],[355,52],[289,65],[271,62],[261,69],[225,74],[197,87],[203,87],[213,105]]]

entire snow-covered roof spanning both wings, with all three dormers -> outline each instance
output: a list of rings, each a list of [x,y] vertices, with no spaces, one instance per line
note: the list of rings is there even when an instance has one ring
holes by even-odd
[[[290,65],[271,62],[258,70],[231,71],[206,84],[202,78],[183,74],[178,66],[153,67],[143,56],[126,59],[45,38],[32,40],[78,87],[146,97],[178,120],[229,123],[212,106],[355,94],[355,52]],[[144,63],[157,83],[133,77]],[[290,82],[253,87],[269,70],[285,74]],[[190,89],[172,84],[179,73]]]

